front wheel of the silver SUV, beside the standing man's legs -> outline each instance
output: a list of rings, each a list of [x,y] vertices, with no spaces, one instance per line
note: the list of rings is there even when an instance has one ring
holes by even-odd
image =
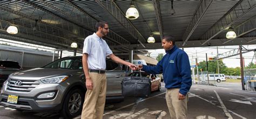
[[[74,118],[82,113],[84,95],[78,88],[70,90],[63,102],[63,109],[61,111],[64,118]]]

